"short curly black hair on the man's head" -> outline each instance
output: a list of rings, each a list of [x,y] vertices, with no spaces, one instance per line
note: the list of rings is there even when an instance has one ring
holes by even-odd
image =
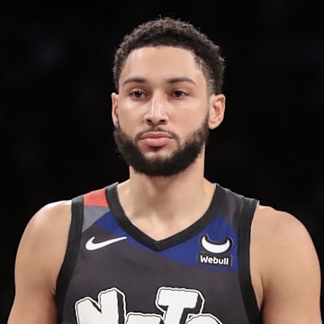
[[[117,90],[121,69],[130,52],[148,46],[172,46],[190,50],[202,68],[211,93],[221,93],[225,59],[220,54],[220,46],[192,23],[171,17],[160,17],[141,23],[130,34],[124,36],[115,52],[112,67],[113,82]]]

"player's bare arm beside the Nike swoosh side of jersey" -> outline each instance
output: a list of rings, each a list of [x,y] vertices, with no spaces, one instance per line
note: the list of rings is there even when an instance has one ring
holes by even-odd
[[[69,202],[50,203],[31,218],[17,251],[8,324],[56,323],[55,288],[69,223]]]

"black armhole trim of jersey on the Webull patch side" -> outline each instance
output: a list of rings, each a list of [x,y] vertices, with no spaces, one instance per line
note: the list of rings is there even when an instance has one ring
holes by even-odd
[[[252,286],[249,253],[251,224],[257,203],[256,199],[245,198],[238,227],[238,277],[247,317],[251,324],[261,323],[261,312]]]

